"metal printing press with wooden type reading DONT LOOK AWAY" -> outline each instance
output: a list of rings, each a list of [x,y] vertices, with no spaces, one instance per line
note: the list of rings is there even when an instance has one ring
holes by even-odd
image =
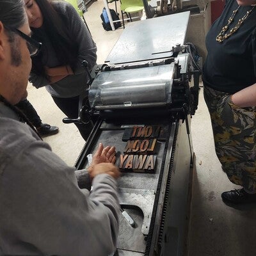
[[[184,46],[188,22],[189,12],[132,22],[93,71],[92,110],[82,108],[81,120],[98,120],[76,167],[88,166],[99,142],[116,147],[122,176],[113,255],[186,251],[199,74]]]

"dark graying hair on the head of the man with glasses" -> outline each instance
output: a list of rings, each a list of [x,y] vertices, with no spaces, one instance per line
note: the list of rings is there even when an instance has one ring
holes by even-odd
[[[9,28],[20,28],[26,22],[24,0],[0,0],[0,21]]]

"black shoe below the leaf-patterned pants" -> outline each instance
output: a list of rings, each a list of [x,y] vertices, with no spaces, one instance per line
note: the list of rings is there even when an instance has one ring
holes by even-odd
[[[221,194],[224,202],[232,204],[256,203],[256,194],[249,194],[243,188],[226,191]]]

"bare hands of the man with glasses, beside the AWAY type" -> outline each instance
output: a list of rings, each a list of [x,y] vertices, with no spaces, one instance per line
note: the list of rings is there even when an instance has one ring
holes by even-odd
[[[119,169],[114,165],[116,161],[115,147],[103,147],[99,144],[97,151],[93,154],[92,164],[88,168],[90,177],[93,179],[96,175],[106,173],[117,179],[120,176]]]

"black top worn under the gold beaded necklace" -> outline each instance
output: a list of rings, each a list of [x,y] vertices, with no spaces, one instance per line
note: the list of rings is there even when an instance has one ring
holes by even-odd
[[[206,36],[208,56],[204,64],[203,81],[220,92],[235,93],[256,83],[256,6],[240,28],[222,43],[216,36],[238,7],[236,0],[226,0],[221,17],[212,24]],[[241,6],[226,33],[253,6]]]

